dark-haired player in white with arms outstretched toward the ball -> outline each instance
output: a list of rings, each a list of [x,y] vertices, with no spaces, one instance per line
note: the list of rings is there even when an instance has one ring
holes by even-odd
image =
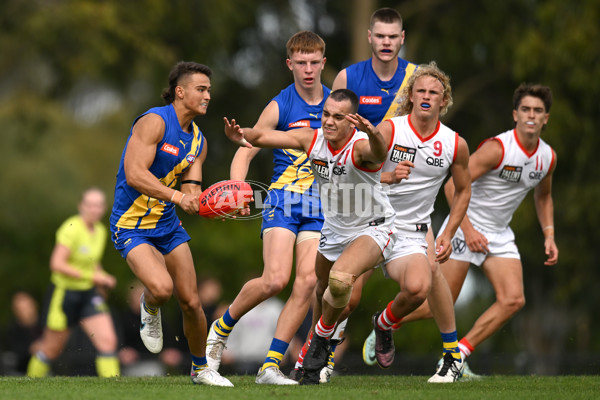
[[[356,114],[357,109],[356,94],[340,89],[325,101],[322,128],[317,130],[301,128],[283,134],[241,129],[234,120],[225,120],[225,133],[241,145],[247,139],[260,147],[306,151],[319,183],[325,223],[315,262],[314,335],[301,384],[319,383],[319,372],[329,356],[329,338],[356,278],[389,256],[396,237],[395,212],[380,184],[386,141]]]

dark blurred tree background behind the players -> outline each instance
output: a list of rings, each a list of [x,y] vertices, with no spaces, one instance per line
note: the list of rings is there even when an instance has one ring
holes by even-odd
[[[208,140],[208,186],[228,178],[236,150],[224,137],[222,117],[252,125],[270,99],[292,82],[285,66],[285,43],[292,34],[309,29],[324,38],[323,82],[331,86],[339,70],[370,56],[366,36],[371,12],[394,7],[406,31],[402,56],[415,63],[435,60],[450,75],[454,106],[443,122],[467,140],[471,152],[483,139],[513,126],[512,92],[519,83],[542,83],[554,94],[543,138],[558,154],[553,195],[559,264],[543,265],[543,237],[529,196],[511,224],[524,265],[527,304],[476,354],[482,354],[482,363],[485,355],[490,372],[600,372],[600,323],[593,317],[600,308],[595,252],[600,223],[598,1],[2,3],[3,304],[9,304],[16,290],[27,290],[41,301],[55,231],[76,212],[82,190],[98,186],[112,203],[131,122],[162,104],[160,92],[174,63],[193,60],[214,71],[208,114],[196,121]],[[248,178],[266,183],[271,171],[270,152],[264,150]],[[448,211],[443,195],[436,204],[434,227]],[[248,277],[262,271],[260,220],[221,222],[179,214],[192,236],[198,274],[221,279],[225,300],[233,300]],[[133,275],[110,243],[103,264],[119,280],[110,302],[122,307]],[[472,282],[471,300],[457,308],[459,337],[493,301],[481,271],[472,271]],[[348,326],[352,349],[360,349],[371,329],[370,315],[396,291],[395,284],[379,276],[367,284]],[[0,309],[0,326],[9,316],[9,307]],[[439,351],[432,322],[410,324],[402,332],[399,349]]]

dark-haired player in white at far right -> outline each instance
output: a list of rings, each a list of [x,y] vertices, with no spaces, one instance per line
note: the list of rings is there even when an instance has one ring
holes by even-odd
[[[534,202],[542,232],[545,265],[558,262],[554,242],[552,173],[556,153],[541,138],[548,123],[552,92],[542,85],[522,84],[514,92],[515,128],[484,141],[469,159],[473,181],[467,216],[452,239],[453,252],[442,272],[454,301],[458,297],[470,264],[480,266],[489,279],[496,301],[481,314],[458,345],[463,358],[497,332],[525,304],[523,266],[515,235],[509,226],[525,195],[534,189]],[[445,185],[452,204],[455,183]],[[431,317],[427,304],[410,316]],[[467,373],[468,372],[468,373]],[[463,377],[477,377],[465,371]]]

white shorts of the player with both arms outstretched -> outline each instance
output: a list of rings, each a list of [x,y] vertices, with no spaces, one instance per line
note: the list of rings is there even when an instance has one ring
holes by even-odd
[[[321,230],[321,240],[319,241],[319,253],[331,262],[335,262],[341,255],[346,246],[352,243],[359,236],[369,236],[381,249],[383,257],[387,260],[396,241],[396,231],[393,224],[384,223],[377,226],[367,226],[362,230],[357,230],[349,235],[342,235],[334,232],[327,226],[327,222]]]

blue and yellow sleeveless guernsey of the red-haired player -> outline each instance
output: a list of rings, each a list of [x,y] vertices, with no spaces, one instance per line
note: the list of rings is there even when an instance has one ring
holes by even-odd
[[[283,89],[273,101],[279,106],[277,130],[320,128],[321,113],[330,90],[323,85],[323,100],[310,105],[296,91],[294,84]],[[318,196],[314,177],[306,153],[294,149],[273,149],[273,176],[269,189],[283,189],[295,193]],[[308,192],[307,192],[308,191]]]

